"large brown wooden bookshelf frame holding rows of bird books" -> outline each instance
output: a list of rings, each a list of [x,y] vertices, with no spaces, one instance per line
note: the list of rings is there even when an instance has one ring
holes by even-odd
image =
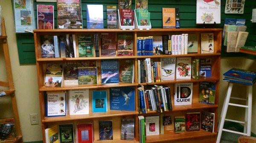
[[[76,121],[93,121],[94,128],[94,143],[138,143],[139,141],[139,124],[138,124],[138,115],[151,116],[151,115],[160,115],[161,113],[151,111],[147,114],[141,114],[138,111],[138,93],[137,87],[141,85],[154,85],[154,84],[164,84],[169,86],[171,89],[172,95],[172,104],[173,102],[173,93],[174,93],[174,84],[175,83],[193,83],[193,97],[192,104],[186,106],[175,106],[172,105],[173,115],[185,115],[187,111],[209,111],[215,113],[215,125],[214,133],[206,132],[204,130],[193,131],[193,132],[183,132],[183,133],[171,133],[163,135],[153,135],[147,136],[146,143],[214,143],[216,139],[217,132],[217,123],[218,123],[218,93],[219,93],[219,77],[220,77],[220,60],[221,60],[221,31],[220,28],[179,28],[179,29],[162,29],[154,28],[150,30],[121,30],[121,29],[54,29],[54,30],[34,30],[34,39],[35,39],[35,55],[36,55],[36,65],[37,65],[37,75],[38,75],[38,88],[39,88],[39,103],[41,110],[41,122],[42,122],[42,132],[43,140],[45,143],[44,130],[51,124],[54,123],[72,123]],[[134,48],[132,56],[116,56],[116,57],[85,57],[85,58],[42,58],[41,57],[41,35],[61,35],[61,34],[101,34],[101,33],[132,33],[134,36]],[[213,33],[214,34],[214,53],[201,53],[201,42],[198,41],[198,52],[189,53],[186,55],[157,55],[157,56],[137,56],[137,42],[136,39],[139,36],[162,36],[164,34],[198,34],[201,33]],[[99,45],[100,46],[100,45]],[[100,47],[99,47],[100,48]],[[200,78],[199,80],[195,79],[175,79],[171,81],[163,81],[156,83],[138,83],[138,71],[137,71],[137,60],[144,58],[152,58],[155,61],[160,61],[160,58],[166,57],[192,57],[192,58],[211,58],[212,59],[212,77]],[[120,82],[117,85],[104,85],[101,84],[101,69],[100,62],[103,59],[118,59],[122,60],[134,60],[134,83],[124,83]],[[64,63],[69,61],[81,62],[81,61],[96,61],[97,62],[97,72],[98,72],[98,84],[96,85],[77,85],[77,86],[62,86],[62,87],[44,87],[44,68],[47,63]],[[199,101],[199,86],[201,81],[215,81],[216,82],[216,91],[215,91],[215,104],[201,104]],[[78,89],[89,89],[89,102],[91,101],[91,92],[92,90],[108,90],[110,87],[135,87],[135,111],[112,111],[108,109],[108,112],[104,113],[94,113],[89,110],[88,115],[67,115],[64,117],[46,117],[45,116],[45,102],[44,102],[44,92],[46,91],[61,91],[61,90],[78,90]],[[108,95],[109,100],[109,95]],[[109,104],[109,103],[108,103]],[[109,108],[109,106],[108,106]],[[165,113],[165,112],[164,112]],[[121,140],[120,139],[120,130],[121,130],[121,119],[122,118],[135,118],[135,131],[134,131],[134,140]],[[113,121],[113,140],[99,140],[99,123],[100,120],[112,120]]]

